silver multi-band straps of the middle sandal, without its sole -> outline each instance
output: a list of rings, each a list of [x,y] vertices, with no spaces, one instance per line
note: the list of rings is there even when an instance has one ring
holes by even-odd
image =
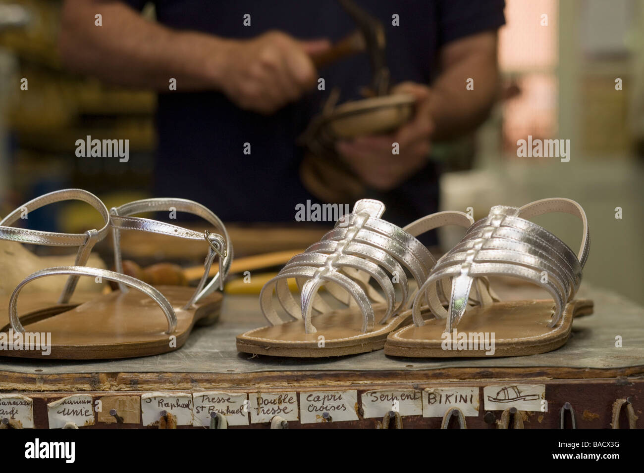
[[[435,264],[430,252],[415,236],[441,225],[465,228],[471,225],[471,219],[463,212],[439,212],[403,229],[381,219],[383,212],[384,204],[380,201],[357,201],[353,212],[343,216],[321,241],[290,259],[261,290],[260,306],[267,320],[273,325],[303,320],[306,333],[315,333],[312,311],[333,310],[317,295],[317,290],[325,286],[338,301],[347,305],[355,302],[363,315],[362,332],[372,331],[375,325],[372,302],[386,303],[380,323],[386,322],[404,310],[411,299],[406,271],[420,284]],[[300,304],[289,290],[288,279],[295,279],[298,284]],[[371,279],[380,292],[369,284]],[[399,286],[399,295],[393,284]],[[273,306],[273,292],[285,311],[285,318]]]

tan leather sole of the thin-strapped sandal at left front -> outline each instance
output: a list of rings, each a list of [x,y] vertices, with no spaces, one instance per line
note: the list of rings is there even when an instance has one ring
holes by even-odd
[[[114,291],[76,306],[53,306],[21,315],[26,333],[50,333],[51,353],[42,349],[0,351],[0,356],[56,360],[144,357],[180,348],[195,324],[219,317],[223,296],[214,292],[191,310],[182,310],[194,288],[158,286],[175,309],[176,330],[167,334],[167,320],[155,301],[137,290]],[[21,310],[21,301],[18,301]],[[8,320],[8,316],[5,316]],[[5,326],[1,331],[7,331]],[[174,338],[173,338],[174,337]]]

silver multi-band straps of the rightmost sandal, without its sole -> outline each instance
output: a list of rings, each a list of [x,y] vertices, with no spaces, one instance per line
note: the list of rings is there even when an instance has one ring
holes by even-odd
[[[563,241],[526,218],[546,212],[566,212],[583,223],[582,245],[575,255]],[[446,331],[457,326],[468,307],[473,284],[479,303],[481,281],[486,276],[513,276],[538,284],[549,292],[555,311],[549,327],[558,324],[566,302],[573,299],[582,281],[582,268],[588,257],[590,238],[582,207],[570,199],[543,199],[524,207],[492,207],[489,215],[472,225],[460,243],[443,255],[419,289],[413,302],[413,321],[422,326],[422,299],[436,317],[446,318]],[[440,281],[451,277],[448,310],[441,303]],[[487,284],[487,283],[485,283]],[[444,287],[444,285],[443,285]]]

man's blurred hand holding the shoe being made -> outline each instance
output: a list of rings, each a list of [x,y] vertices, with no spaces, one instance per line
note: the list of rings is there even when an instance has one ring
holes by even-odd
[[[419,171],[427,162],[434,129],[430,115],[430,88],[414,82],[403,82],[393,93],[416,97],[416,115],[395,134],[364,136],[351,142],[339,142],[337,152],[366,185],[376,190],[391,190]],[[393,143],[400,154],[392,154]]]

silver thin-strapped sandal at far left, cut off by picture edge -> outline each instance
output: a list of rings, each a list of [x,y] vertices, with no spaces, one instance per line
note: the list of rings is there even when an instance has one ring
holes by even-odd
[[[17,221],[28,218],[30,212],[40,209],[45,205],[68,201],[79,200],[90,204],[96,209],[102,217],[105,225],[100,230],[88,230],[81,234],[66,234],[57,232],[45,232],[42,230],[29,230],[26,228],[12,227]],[[49,192],[43,196],[37,197],[24,203],[13,212],[8,214],[0,221],[0,239],[6,241],[14,241],[17,243],[28,243],[31,245],[44,245],[44,246],[78,246],[79,250],[74,261],[75,266],[84,266],[91,254],[91,250],[99,243],[109,232],[109,212],[104,203],[100,201],[97,196],[82,189],[62,189],[55,192]],[[3,257],[14,257],[14,255],[3,255]],[[3,268],[6,273],[14,273],[20,268],[15,268],[12,261],[7,262],[7,267]],[[9,268],[8,266],[12,266]],[[17,280],[20,281],[25,273],[16,274]],[[11,279],[14,279],[13,277]],[[34,292],[29,294],[29,297],[23,302],[23,313],[30,314],[32,317],[46,317],[53,315],[62,310],[69,309],[77,305],[81,301],[87,301],[97,295],[97,292],[82,292],[75,293],[75,288],[79,281],[77,275],[68,277],[62,293],[58,296],[57,293],[52,293],[52,285],[44,285],[34,288]],[[13,287],[10,289],[12,290]],[[71,296],[74,295],[73,300]],[[9,304],[9,293],[0,294],[0,327],[5,327],[9,323],[9,313],[7,310]],[[26,323],[28,320],[23,320]],[[0,329],[1,331],[1,329]]]

